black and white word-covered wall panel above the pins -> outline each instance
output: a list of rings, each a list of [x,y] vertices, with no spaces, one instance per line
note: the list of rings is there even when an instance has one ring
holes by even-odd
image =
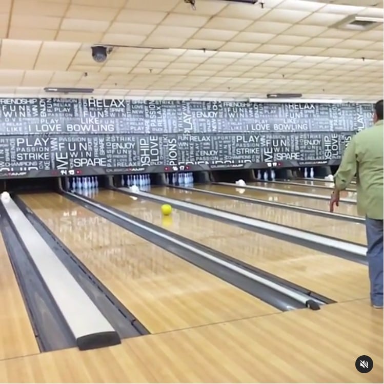
[[[0,177],[333,164],[371,104],[0,99]]]

